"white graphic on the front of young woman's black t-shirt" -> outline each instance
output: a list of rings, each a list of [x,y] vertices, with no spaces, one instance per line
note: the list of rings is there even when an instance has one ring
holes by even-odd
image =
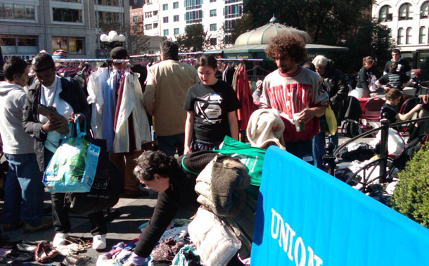
[[[222,121],[222,96],[220,94],[206,94],[199,97],[196,101],[196,115],[198,115],[203,122],[210,124],[217,124]]]

